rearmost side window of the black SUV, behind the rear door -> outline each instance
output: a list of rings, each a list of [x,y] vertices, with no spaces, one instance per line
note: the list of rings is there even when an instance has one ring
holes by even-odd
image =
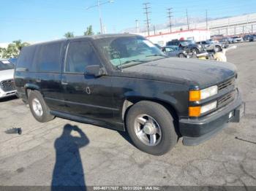
[[[33,64],[36,46],[23,47],[16,66],[17,71],[36,71],[37,66]]]

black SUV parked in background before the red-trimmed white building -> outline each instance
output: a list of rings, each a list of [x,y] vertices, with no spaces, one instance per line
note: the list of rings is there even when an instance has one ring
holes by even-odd
[[[206,47],[203,46],[202,44],[196,44],[194,41],[192,40],[172,40],[166,43],[166,46],[178,46],[180,48],[187,48],[189,49],[191,52],[193,52],[194,55],[202,53],[202,52],[206,52]]]

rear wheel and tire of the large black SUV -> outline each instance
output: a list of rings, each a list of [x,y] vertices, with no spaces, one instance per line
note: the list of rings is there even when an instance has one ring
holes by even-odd
[[[48,122],[54,118],[38,91],[31,91],[29,94],[29,108],[34,118],[39,122]]]

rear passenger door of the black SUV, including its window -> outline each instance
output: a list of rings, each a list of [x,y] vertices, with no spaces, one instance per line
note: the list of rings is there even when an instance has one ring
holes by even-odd
[[[39,44],[34,62],[37,63],[36,83],[51,110],[62,111],[65,107],[61,88],[61,63],[65,42]]]

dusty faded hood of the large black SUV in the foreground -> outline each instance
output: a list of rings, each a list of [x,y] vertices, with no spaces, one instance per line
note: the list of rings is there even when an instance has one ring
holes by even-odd
[[[127,77],[155,79],[203,88],[235,76],[236,66],[217,61],[165,58],[124,68],[123,74],[129,74]]]

